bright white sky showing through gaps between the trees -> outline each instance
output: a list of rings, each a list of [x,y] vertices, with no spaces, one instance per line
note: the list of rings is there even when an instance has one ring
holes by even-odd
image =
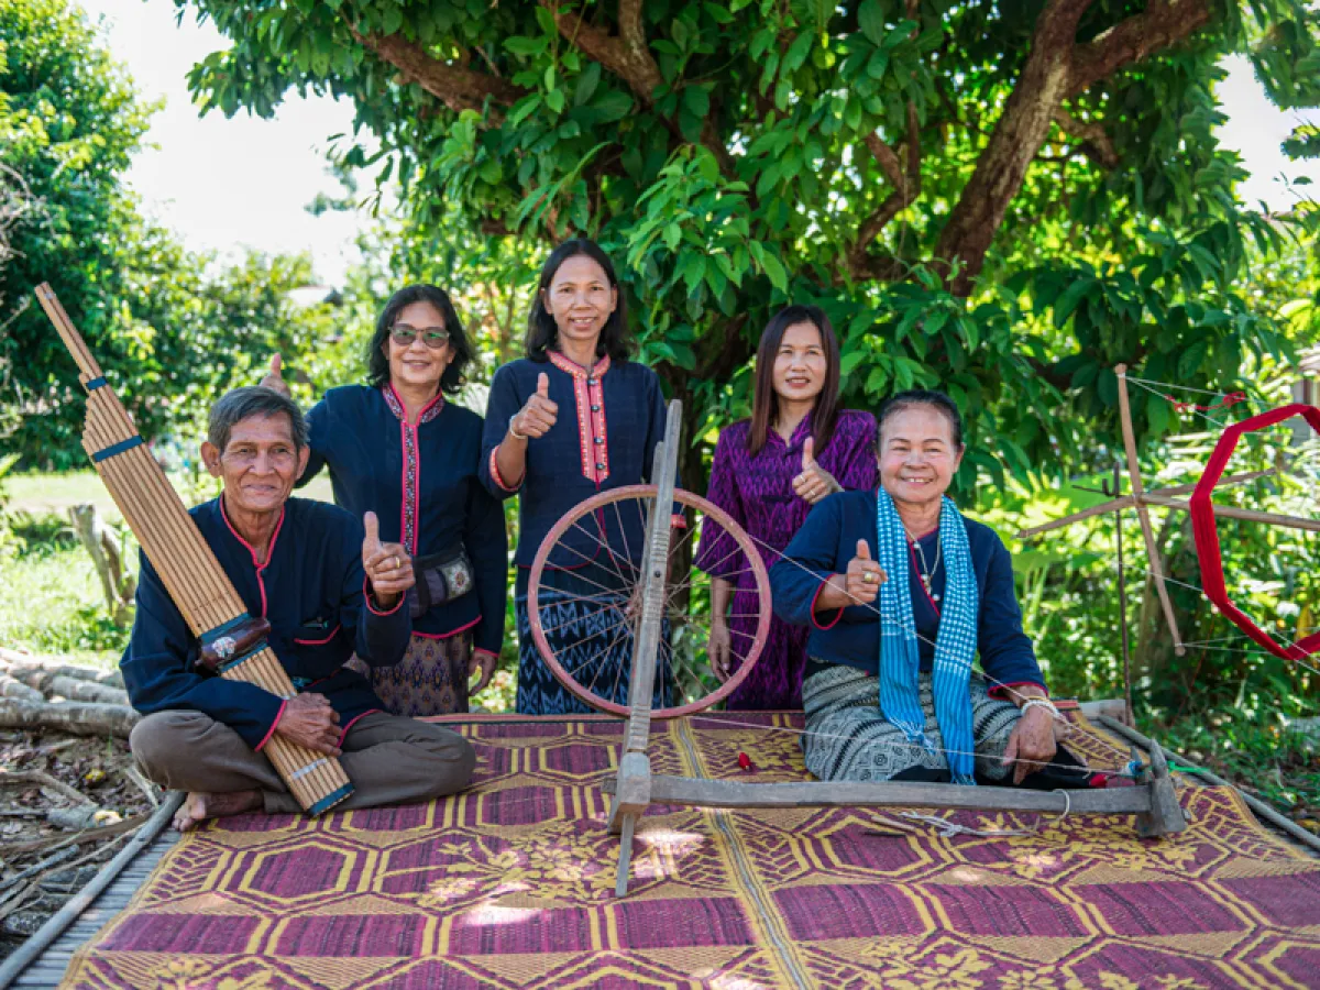
[[[127,63],[139,88],[164,98],[147,137],[156,145],[136,160],[129,180],[158,220],[182,235],[189,247],[235,252],[310,251],[317,276],[339,284],[356,257],[354,235],[367,223],[355,214],[312,216],[304,209],[318,191],[339,193],[326,173],[329,137],[346,132],[352,108],[329,98],[289,98],[273,120],[218,112],[198,117],[189,99],[186,75],[203,57],[226,46],[210,25],[191,15],[176,24],[170,0],[81,0],[102,17],[115,57]],[[1320,195],[1320,162],[1291,162],[1279,143],[1303,119],[1320,123],[1320,112],[1280,112],[1265,98],[1245,59],[1233,59],[1220,87],[1229,123],[1221,139],[1238,150],[1251,178],[1241,189],[1247,202],[1263,199],[1284,210],[1298,198],[1279,176],[1308,174]]]

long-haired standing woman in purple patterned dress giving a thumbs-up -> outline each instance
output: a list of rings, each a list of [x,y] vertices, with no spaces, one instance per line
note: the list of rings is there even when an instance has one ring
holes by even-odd
[[[836,491],[875,487],[875,418],[838,409],[838,341],[825,313],[780,310],[756,347],[751,420],[729,426],[715,444],[706,498],[756,541],[767,570],[812,506]],[[702,533],[696,564],[713,578],[709,656],[715,676],[727,680],[755,634],[756,587],[717,527]],[[756,667],[726,706],[800,709],[807,632],[772,619]]]

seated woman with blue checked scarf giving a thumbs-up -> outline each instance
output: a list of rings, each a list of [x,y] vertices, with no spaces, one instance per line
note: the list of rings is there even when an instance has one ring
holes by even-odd
[[[820,502],[771,569],[775,611],[810,627],[807,768],[822,780],[1102,785],[1055,742],[1012,561],[945,496],[962,418],[942,392],[878,416],[878,491]],[[979,655],[985,677],[973,676]]]

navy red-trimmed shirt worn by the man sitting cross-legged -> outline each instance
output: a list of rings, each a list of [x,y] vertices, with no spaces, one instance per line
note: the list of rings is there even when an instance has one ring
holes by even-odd
[[[364,595],[362,523],[335,506],[306,499],[284,503],[265,564],[230,525],[222,498],[190,515],[251,615],[271,622],[268,643],[300,689],[325,694],[339,713],[341,737],[384,705],[345,661],[354,652],[372,667],[397,664],[412,631],[400,598],[388,612]],[[137,615],[120,660],[124,686],[143,714],[187,709],[223,722],[253,750],[265,746],[285,701],[246,681],[230,681],[194,667],[198,642],[141,556]]]

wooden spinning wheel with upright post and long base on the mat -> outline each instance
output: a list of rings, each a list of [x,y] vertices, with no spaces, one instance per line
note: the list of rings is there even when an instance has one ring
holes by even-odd
[[[759,553],[752,546],[750,537],[733,520],[710,506],[704,499],[675,490],[675,477],[677,474],[678,459],[678,425],[682,407],[677,401],[669,403],[669,417],[665,424],[664,442],[657,445],[655,453],[655,470],[652,477],[656,484],[638,486],[635,488],[620,488],[614,492],[587,499],[576,510],[569,512],[554,528],[546,533],[528,581],[528,618],[531,619],[533,639],[537,649],[556,677],[574,694],[606,711],[627,715],[628,723],[623,737],[623,752],[619,756],[619,771],[614,780],[605,781],[603,791],[612,796],[610,803],[610,832],[619,836],[619,869],[615,878],[615,896],[624,896],[628,891],[628,873],[632,862],[632,833],[638,820],[645,813],[651,804],[676,804],[700,808],[797,808],[797,807],[927,807],[927,808],[985,808],[993,810],[1031,810],[1031,812],[1063,812],[1069,810],[1080,814],[1135,814],[1137,830],[1142,836],[1166,836],[1177,833],[1187,828],[1183,812],[1173,792],[1173,781],[1170,777],[1168,767],[1159,747],[1151,750],[1150,767],[1142,767],[1138,774],[1137,787],[1106,791],[1077,791],[1071,793],[1044,792],[1044,791],[1016,791],[1010,788],[962,787],[958,784],[924,784],[908,781],[803,781],[784,784],[746,784],[731,780],[704,780],[697,777],[680,777],[667,775],[652,775],[651,758],[647,754],[647,744],[651,738],[652,718],[672,718],[680,714],[700,711],[713,705],[737,686],[725,684],[717,690],[711,690],[700,698],[684,705],[671,708],[655,708],[652,697],[657,675],[663,671],[667,659],[673,656],[673,642],[678,634],[673,628],[673,618],[684,619],[684,610],[675,609],[681,595],[682,581],[673,579],[671,568],[671,548],[680,546],[685,539],[692,539],[693,532],[684,532],[675,537],[669,507],[677,503],[684,507],[700,510],[705,513],[701,525],[708,525],[714,520],[717,525],[723,525],[734,539],[734,544],[744,556],[748,569],[755,574],[756,612],[755,634],[748,634],[750,644],[744,648],[741,673],[746,677],[746,671],[755,663],[764,644],[766,632],[770,627],[770,587],[766,578],[764,564]],[[627,527],[615,523],[611,531],[609,521],[620,502],[635,499],[647,503],[649,510],[639,517],[639,528],[628,536],[631,544],[624,543]],[[656,507],[660,507],[659,511]],[[620,511],[620,519],[626,517]],[[583,520],[587,524],[583,525]],[[593,529],[591,527],[597,528]],[[578,543],[565,540],[574,529],[586,533],[578,537]],[[618,537],[618,543],[610,539],[611,533]],[[590,537],[590,540],[587,540]],[[591,540],[595,545],[591,545]],[[623,546],[623,553],[618,548]],[[640,545],[640,553],[634,557],[631,548]],[[611,552],[611,546],[614,550]],[[558,553],[557,553],[558,548]],[[602,549],[603,556],[602,556]],[[593,581],[579,586],[572,594],[576,597],[573,607],[587,609],[587,614],[597,616],[598,624],[587,630],[587,639],[601,638],[605,649],[614,659],[616,669],[598,671],[593,657],[594,649],[587,649],[585,655],[574,655],[569,664],[564,657],[569,649],[549,642],[549,632],[557,630],[546,626],[544,612],[552,607],[550,601],[558,591],[548,583],[556,568],[550,562],[557,562],[562,569],[565,564],[572,564],[573,553],[583,561],[579,569],[593,565]],[[628,566],[622,561],[627,560]],[[698,582],[700,583],[700,582]],[[700,599],[700,595],[698,595]],[[583,606],[583,602],[586,603]],[[689,597],[690,603],[690,597]],[[700,606],[700,601],[698,601]],[[735,614],[737,614],[735,599]],[[747,606],[743,606],[747,607]],[[689,609],[688,615],[697,611]],[[601,619],[599,616],[605,616]],[[602,634],[599,623],[609,623],[609,635]],[[668,627],[667,627],[668,626]],[[681,632],[681,631],[680,631]],[[619,649],[620,643],[627,643],[631,649]],[[581,645],[577,642],[569,647]],[[615,652],[618,651],[618,652]],[[585,659],[583,659],[585,656]],[[611,693],[622,684],[622,668],[628,671],[628,704],[624,708],[616,701],[609,701],[603,694]],[[602,677],[610,678],[602,681]],[[738,678],[741,681],[741,677]]]

